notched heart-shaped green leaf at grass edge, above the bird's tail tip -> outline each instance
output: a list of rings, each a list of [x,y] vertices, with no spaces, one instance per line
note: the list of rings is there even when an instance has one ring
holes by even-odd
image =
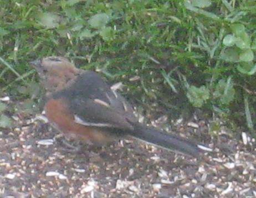
[[[206,86],[190,86],[187,92],[187,98],[194,107],[202,107],[203,103],[209,99],[209,90]]]

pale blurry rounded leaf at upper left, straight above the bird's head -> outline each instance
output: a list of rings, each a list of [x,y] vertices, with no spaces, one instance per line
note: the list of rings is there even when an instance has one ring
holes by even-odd
[[[47,28],[56,28],[59,25],[59,16],[57,14],[53,14],[50,12],[45,12],[39,14],[39,22],[42,24],[44,27]]]

